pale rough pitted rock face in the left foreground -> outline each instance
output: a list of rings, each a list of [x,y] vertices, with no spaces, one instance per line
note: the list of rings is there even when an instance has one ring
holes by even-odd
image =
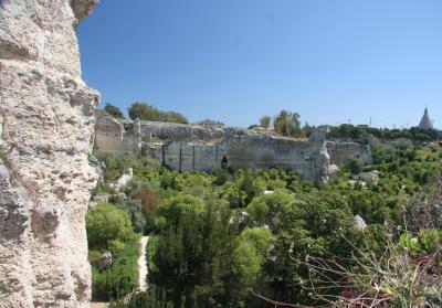
[[[97,0],[0,0],[0,307],[88,307],[98,93],[75,29]]]

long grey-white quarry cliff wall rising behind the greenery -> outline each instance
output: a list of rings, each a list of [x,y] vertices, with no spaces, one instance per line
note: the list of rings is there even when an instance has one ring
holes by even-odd
[[[116,120],[103,110],[96,115],[95,150],[152,158],[177,171],[212,171],[225,159],[234,168],[294,170],[319,183],[328,181],[332,164],[349,159],[371,162],[370,148],[354,142],[297,140],[231,127]]]

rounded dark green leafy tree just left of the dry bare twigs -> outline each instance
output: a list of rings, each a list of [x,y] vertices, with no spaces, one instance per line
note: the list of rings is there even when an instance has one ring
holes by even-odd
[[[311,277],[303,262],[327,254],[344,258],[351,255],[351,245],[343,241],[343,236],[351,240],[359,236],[350,209],[335,193],[299,195],[282,217],[278,230],[272,252],[274,262],[266,267],[274,278],[264,291],[269,297],[275,294],[272,298],[280,301],[312,304],[307,288]],[[320,277],[314,279],[319,282]]]

